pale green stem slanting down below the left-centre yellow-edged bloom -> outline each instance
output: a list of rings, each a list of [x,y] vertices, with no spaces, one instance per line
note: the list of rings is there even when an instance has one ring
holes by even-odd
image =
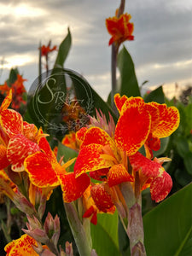
[[[79,220],[78,212],[73,204],[65,203],[64,207],[67,214],[68,223],[73,233],[74,240],[81,256],[90,256],[91,245],[88,237],[86,236],[84,226]]]

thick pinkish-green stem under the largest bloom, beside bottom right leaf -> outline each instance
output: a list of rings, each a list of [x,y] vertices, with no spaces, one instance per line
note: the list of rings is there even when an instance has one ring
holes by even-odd
[[[136,183],[137,183],[136,179]],[[121,192],[125,198],[128,211],[127,236],[130,239],[131,256],[145,256],[144,232],[142,218],[142,196],[135,195],[131,183],[122,183]]]

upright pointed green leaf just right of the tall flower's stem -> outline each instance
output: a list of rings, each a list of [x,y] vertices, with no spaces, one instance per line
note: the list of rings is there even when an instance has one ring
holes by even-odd
[[[125,46],[120,50],[117,62],[120,73],[120,96],[141,96],[134,63]]]

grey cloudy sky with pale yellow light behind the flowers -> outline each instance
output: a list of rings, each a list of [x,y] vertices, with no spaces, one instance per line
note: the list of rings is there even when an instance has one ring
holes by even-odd
[[[106,99],[110,91],[110,36],[105,19],[119,0],[0,0],[0,84],[18,67],[26,88],[38,77],[38,44],[59,45],[70,28],[73,45],[65,67],[84,75]],[[125,12],[135,24],[135,40],[125,42],[139,84],[192,84],[191,0],[128,0]],[[50,61],[55,60],[55,54]],[[1,64],[3,62],[3,65]]]

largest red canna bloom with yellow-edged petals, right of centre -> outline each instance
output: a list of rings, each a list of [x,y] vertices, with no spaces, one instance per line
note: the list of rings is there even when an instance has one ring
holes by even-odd
[[[119,120],[113,137],[99,127],[78,131],[81,145],[74,166],[75,177],[89,172],[90,177],[102,181],[102,184],[93,187],[92,193],[99,209],[105,203],[103,197],[108,201],[111,199],[116,207],[120,207],[120,201],[124,204],[118,185],[134,183],[136,173],[140,173],[143,179],[143,189],[150,186],[152,199],[161,201],[172,188],[172,181],[160,163],[150,160],[149,152],[155,148],[152,139],[160,142],[160,137],[170,136],[177,129],[177,108],[167,108],[166,104],[156,102],[145,103],[141,97],[120,97],[119,94],[114,96],[114,101],[119,109]],[[143,145],[148,158],[137,153]],[[133,172],[127,157],[130,158]],[[147,166],[151,172],[145,171],[148,170]]]

